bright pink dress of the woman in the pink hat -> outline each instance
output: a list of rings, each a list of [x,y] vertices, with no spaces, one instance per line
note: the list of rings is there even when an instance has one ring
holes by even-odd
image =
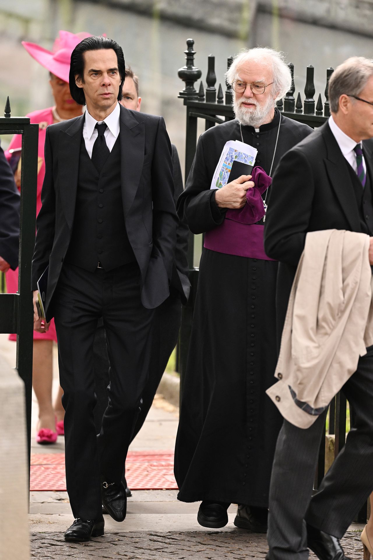
[[[43,180],[45,175],[45,162],[44,162],[44,143],[45,143],[45,130],[49,124],[53,124],[53,114],[52,108],[42,109],[40,111],[33,111],[28,115],[30,117],[30,123],[39,124],[39,148],[37,152],[37,193],[36,193],[36,215],[39,214],[41,208],[41,187],[43,186]],[[5,152],[7,159],[9,160],[11,154],[9,150],[11,148],[20,148],[22,146],[22,136],[21,134],[15,134],[9,145],[8,150]],[[16,293],[18,290],[18,268],[16,270],[8,270],[6,273],[7,280],[7,291],[8,293]],[[16,340],[16,335],[11,334],[10,340]],[[54,319],[50,321],[48,333],[37,333],[34,330],[34,340],[55,340],[57,342],[56,329],[54,326]]]

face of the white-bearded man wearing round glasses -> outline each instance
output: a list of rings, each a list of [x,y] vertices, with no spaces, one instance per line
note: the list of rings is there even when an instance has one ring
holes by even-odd
[[[245,91],[234,91],[233,109],[242,124],[259,127],[270,122],[275,111],[277,92],[273,91],[272,70],[254,60],[247,60],[237,68],[236,80],[247,83]],[[267,86],[263,94],[253,94],[249,84],[260,83]]]

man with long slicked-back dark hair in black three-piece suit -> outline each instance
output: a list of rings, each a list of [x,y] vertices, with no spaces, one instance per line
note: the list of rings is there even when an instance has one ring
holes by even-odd
[[[120,46],[103,37],[74,49],[70,91],[87,110],[51,125],[32,263],[49,264],[46,321],[55,318],[64,390],[67,490],[77,518],[66,540],[103,534],[102,505],[126,515],[121,483],[148,375],[154,308],[169,295],[177,216],[171,144],[162,117],[124,109]],[[93,340],[103,318],[109,402],[96,438]]]

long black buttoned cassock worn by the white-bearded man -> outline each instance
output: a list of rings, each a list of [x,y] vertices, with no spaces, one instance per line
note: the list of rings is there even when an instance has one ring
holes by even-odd
[[[279,123],[276,111],[259,132],[242,127],[243,141],[257,148],[256,164],[267,174]],[[272,174],[281,156],[311,132],[281,115]],[[210,184],[228,140],[241,140],[236,120],[210,128],[197,144],[178,200],[178,212],[184,211],[193,233],[219,227],[224,220]],[[268,204],[270,198],[269,190]],[[202,251],[175,448],[178,500],[268,507],[282,424],[265,394],[275,381],[277,361],[276,276],[277,262]]]

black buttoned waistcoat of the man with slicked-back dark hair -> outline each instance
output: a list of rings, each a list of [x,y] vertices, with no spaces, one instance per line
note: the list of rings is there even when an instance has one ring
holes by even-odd
[[[82,138],[74,224],[65,262],[93,272],[98,262],[111,270],[134,260],[123,213],[120,138],[100,174]]]

